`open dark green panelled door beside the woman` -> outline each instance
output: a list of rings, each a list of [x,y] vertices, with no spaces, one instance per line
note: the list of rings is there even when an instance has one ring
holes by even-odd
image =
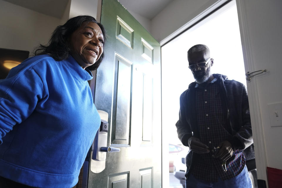
[[[160,43],[116,0],[102,1],[101,23],[106,58],[90,85],[109,114],[107,146],[120,152],[107,153],[102,172],[89,170],[88,188],[162,187]]]

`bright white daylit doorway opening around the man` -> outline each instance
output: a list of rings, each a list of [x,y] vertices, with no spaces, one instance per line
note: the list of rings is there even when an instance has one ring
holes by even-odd
[[[182,164],[182,158],[185,158],[189,148],[183,146],[178,139],[175,123],[179,118],[179,97],[194,82],[188,68],[187,51],[196,44],[205,44],[210,48],[211,58],[214,59],[212,73],[227,75],[230,80],[237,80],[246,86],[235,1],[221,7],[161,48],[162,178],[163,184],[168,184],[165,181],[169,179],[170,188],[181,188],[185,185],[186,166]]]

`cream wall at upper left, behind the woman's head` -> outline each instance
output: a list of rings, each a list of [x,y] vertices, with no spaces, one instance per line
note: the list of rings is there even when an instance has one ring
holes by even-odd
[[[26,50],[46,44],[60,19],[0,0],[0,48]]]

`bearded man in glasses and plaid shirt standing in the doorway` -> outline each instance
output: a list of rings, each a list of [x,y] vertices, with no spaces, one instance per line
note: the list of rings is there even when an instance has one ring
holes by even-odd
[[[206,45],[190,48],[188,62],[195,82],[180,96],[176,123],[179,139],[192,151],[186,188],[251,188],[243,154],[253,144],[246,87],[211,73],[214,60]],[[254,158],[252,149],[248,156]]]

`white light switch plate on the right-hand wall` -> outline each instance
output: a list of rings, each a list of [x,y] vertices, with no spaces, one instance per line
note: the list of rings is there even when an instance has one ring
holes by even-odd
[[[271,127],[282,127],[282,102],[268,104]]]

